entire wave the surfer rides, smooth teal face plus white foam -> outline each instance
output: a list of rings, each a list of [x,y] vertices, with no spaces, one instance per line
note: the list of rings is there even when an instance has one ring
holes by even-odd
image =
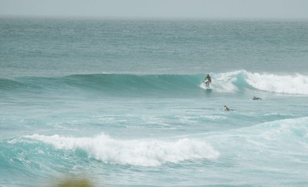
[[[308,94],[308,76],[252,73],[245,70],[211,73],[210,87],[217,93],[236,93],[244,90],[286,94]],[[194,94],[205,89],[203,74],[194,75],[131,75],[86,74],[65,77],[20,77],[0,79],[4,91],[99,91],[105,94]]]

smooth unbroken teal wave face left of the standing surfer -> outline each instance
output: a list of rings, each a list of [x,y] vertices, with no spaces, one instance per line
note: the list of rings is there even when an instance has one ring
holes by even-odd
[[[20,92],[100,92],[111,95],[187,93],[200,90],[202,75],[86,74],[2,78],[0,89]]]

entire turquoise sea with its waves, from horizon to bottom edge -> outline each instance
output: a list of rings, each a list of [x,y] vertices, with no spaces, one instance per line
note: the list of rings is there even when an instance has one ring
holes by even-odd
[[[308,20],[0,17],[0,186],[70,177],[308,186]]]

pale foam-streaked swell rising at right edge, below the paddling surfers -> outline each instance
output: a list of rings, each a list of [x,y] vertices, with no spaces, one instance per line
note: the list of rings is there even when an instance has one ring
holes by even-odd
[[[216,139],[217,137],[220,138]],[[229,148],[237,149],[238,151],[234,152],[234,154],[241,155],[247,159],[252,159],[256,152],[262,153],[262,156],[265,156],[266,154],[264,153],[266,152],[267,156],[273,154],[271,158],[286,159],[286,162],[300,162],[300,160],[296,160],[299,155],[305,155],[302,157],[305,158],[304,160],[308,158],[307,137],[308,117],[274,120],[210,136],[210,138],[216,140],[216,148],[219,145],[218,147],[225,150]],[[230,144],[230,142],[233,143]],[[287,160],[287,158],[292,157],[294,157],[294,160]],[[264,162],[268,161],[265,157],[262,159],[264,159]]]

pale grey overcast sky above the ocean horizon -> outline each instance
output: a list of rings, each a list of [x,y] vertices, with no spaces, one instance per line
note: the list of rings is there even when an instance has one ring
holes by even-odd
[[[308,18],[308,0],[0,0],[0,15]]]

